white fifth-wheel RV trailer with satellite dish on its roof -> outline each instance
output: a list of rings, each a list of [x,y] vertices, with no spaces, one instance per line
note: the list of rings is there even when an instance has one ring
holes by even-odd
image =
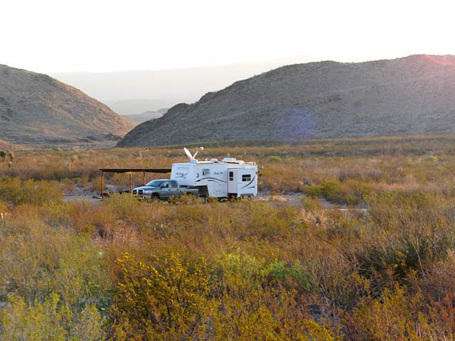
[[[200,150],[203,148],[201,147]],[[190,162],[173,163],[171,180],[180,185],[198,188],[200,196],[210,197],[252,197],[257,195],[257,165],[235,158],[218,161],[196,160],[188,149],[185,152]]]

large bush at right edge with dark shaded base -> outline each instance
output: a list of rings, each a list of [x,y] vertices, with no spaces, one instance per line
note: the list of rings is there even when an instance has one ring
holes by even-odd
[[[368,197],[369,217],[350,259],[360,264],[380,293],[395,281],[427,274],[454,247],[454,201],[437,193],[377,193]]]

